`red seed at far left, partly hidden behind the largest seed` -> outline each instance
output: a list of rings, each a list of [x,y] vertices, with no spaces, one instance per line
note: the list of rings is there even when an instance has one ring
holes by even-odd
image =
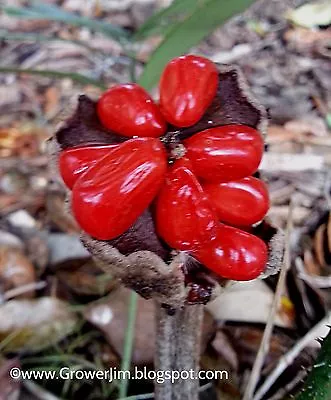
[[[59,169],[64,183],[72,189],[76,180],[93,167],[102,157],[114,150],[115,145],[74,147],[59,156]]]

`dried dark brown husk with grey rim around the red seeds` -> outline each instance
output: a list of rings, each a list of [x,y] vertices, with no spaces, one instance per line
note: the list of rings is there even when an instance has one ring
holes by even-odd
[[[241,71],[234,66],[220,65],[217,94],[205,115],[186,129],[169,127],[162,138],[166,145],[190,137],[210,127],[245,124],[265,135],[266,110],[250,95]],[[97,117],[96,103],[87,96],[78,99],[73,115],[49,140],[52,168],[57,170],[59,151],[88,144],[121,143],[127,138],[104,128]],[[55,171],[53,173],[55,176]],[[269,261],[262,277],[278,272],[284,248],[283,233],[270,221],[261,224],[259,236],[268,243]],[[169,249],[157,236],[150,209],[132,227],[110,241],[96,240],[82,234],[82,242],[106,271],[141,296],[154,298],[172,308],[185,304],[205,304],[215,298],[224,286],[185,252]]]

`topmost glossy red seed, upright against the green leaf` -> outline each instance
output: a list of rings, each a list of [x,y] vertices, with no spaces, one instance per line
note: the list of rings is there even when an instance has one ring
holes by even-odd
[[[187,55],[170,61],[160,81],[160,107],[178,127],[194,125],[215,97],[218,72],[204,57]]]

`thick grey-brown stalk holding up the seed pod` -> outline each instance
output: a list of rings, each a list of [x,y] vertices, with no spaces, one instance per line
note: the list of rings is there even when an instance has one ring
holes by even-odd
[[[156,305],[156,350],[155,370],[188,371],[199,370],[201,324],[203,306],[184,306],[169,315],[167,310]],[[192,372],[191,372],[192,371]],[[164,372],[163,372],[164,373]],[[155,383],[156,400],[198,400],[199,379],[171,379]]]

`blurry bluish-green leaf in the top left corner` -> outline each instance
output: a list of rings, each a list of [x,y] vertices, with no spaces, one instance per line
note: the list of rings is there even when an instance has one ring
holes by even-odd
[[[87,17],[72,14],[64,11],[53,4],[42,4],[34,2],[30,7],[4,7],[4,11],[11,16],[21,19],[41,19],[50,21],[59,21],[75,26],[85,26],[98,32],[112,37],[113,39],[127,39],[128,31],[108,22],[97,21]]]

